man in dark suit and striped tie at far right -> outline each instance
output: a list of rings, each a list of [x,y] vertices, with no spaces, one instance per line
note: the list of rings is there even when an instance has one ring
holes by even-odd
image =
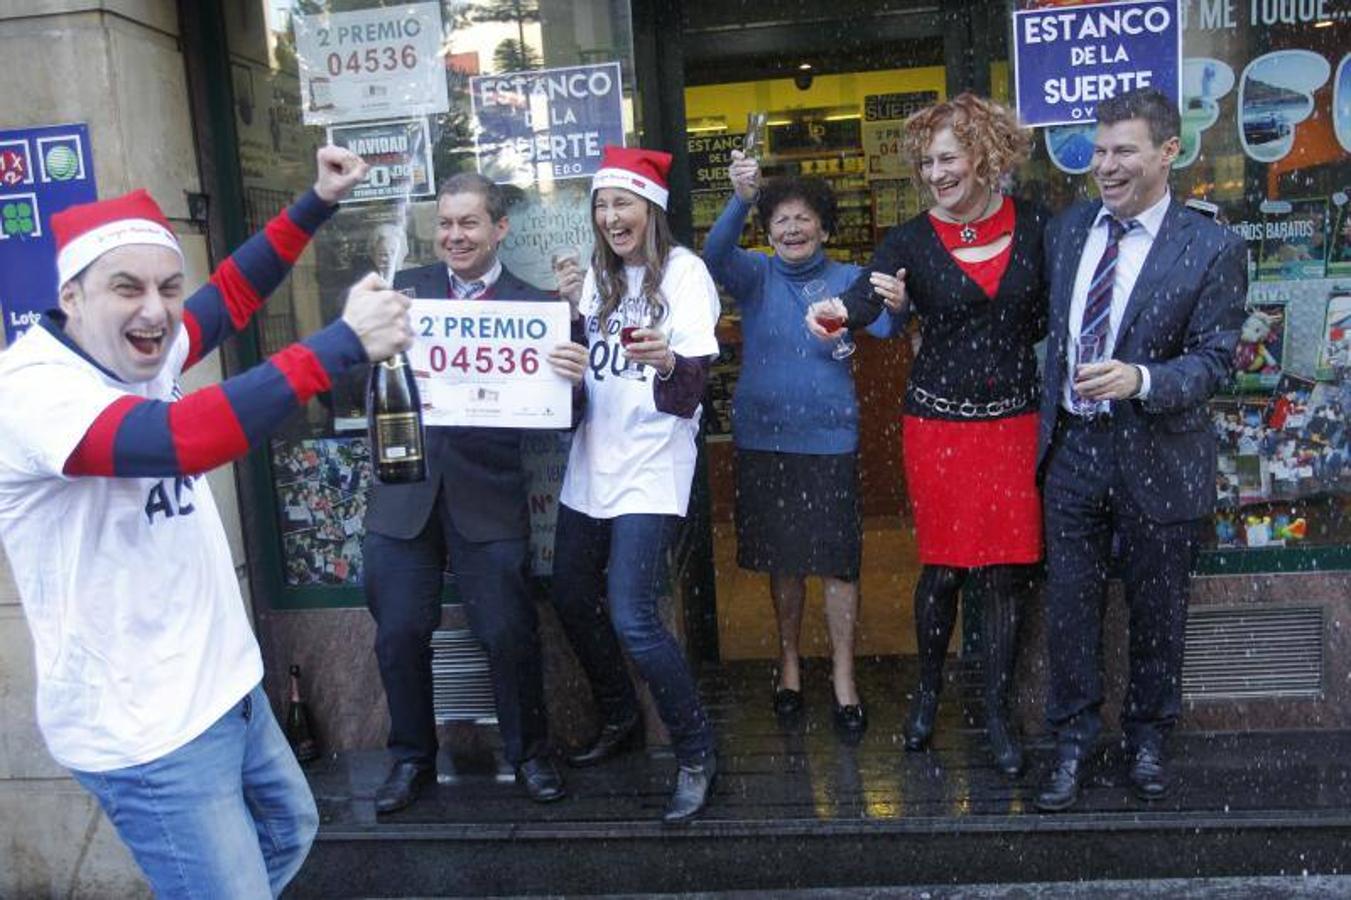
[[[1163,738],[1182,704],[1189,573],[1215,505],[1205,403],[1243,322],[1243,242],[1169,192],[1181,123],[1144,88],[1097,107],[1101,201],[1047,228],[1050,332],[1038,472],[1047,539],[1047,720],[1056,762],[1043,811],[1078,799],[1101,730],[1100,632],[1113,538],[1129,607],[1121,728],[1138,796],[1167,788]],[[1100,361],[1092,362],[1093,357]]]

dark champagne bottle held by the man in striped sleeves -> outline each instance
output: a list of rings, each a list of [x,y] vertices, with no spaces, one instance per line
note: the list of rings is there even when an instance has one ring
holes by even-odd
[[[422,399],[405,354],[370,366],[366,420],[376,477],[385,484],[424,481]]]

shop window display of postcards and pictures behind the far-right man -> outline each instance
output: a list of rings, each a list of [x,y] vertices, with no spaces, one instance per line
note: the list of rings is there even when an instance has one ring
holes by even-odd
[[[1332,3],[1188,8],[1173,188],[1248,247],[1235,374],[1212,403],[1210,546],[1351,542],[1351,20]]]

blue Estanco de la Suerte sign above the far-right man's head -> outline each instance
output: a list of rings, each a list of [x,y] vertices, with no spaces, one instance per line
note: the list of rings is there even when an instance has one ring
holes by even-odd
[[[1100,100],[1158,88],[1181,95],[1178,0],[1129,0],[1013,14],[1019,118],[1093,122]]]

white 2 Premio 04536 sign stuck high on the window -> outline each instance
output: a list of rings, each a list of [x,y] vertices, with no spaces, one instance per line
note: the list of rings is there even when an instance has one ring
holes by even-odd
[[[305,124],[450,109],[439,3],[322,12],[295,23]]]

